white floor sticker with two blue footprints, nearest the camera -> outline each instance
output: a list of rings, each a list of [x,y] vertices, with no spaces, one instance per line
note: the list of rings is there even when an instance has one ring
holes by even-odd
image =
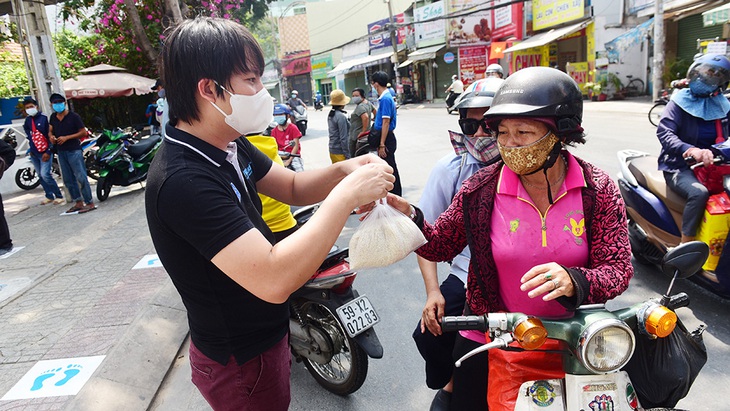
[[[76,395],[105,355],[38,361],[2,400]]]

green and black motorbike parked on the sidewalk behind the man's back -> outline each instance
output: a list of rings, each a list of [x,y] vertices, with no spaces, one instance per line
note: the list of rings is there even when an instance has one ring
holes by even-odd
[[[104,130],[97,144],[99,149],[95,166],[99,170],[99,179],[96,196],[99,201],[105,201],[109,198],[112,186],[126,187],[147,178],[147,171],[162,144],[162,137],[153,135],[137,142],[133,132]]]

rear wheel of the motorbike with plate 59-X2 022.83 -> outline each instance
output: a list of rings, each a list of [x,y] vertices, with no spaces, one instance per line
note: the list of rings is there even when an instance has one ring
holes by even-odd
[[[318,303],[308,303],[302,307],[302,315],[309,321],[318,323],[326,330],[331,339],[340,340],[341,344],[331,341],[333,346],[341,345],[335,350],[327,364],[319,364],[308,358],[302,358],[304,365],[319,385],[337,395],[348,395],[357,391],[365,382],[368,374],[368,356],[355,341],[350,338],[337,317],[329,308]],[[335,335],[333,335],[333,333]]]

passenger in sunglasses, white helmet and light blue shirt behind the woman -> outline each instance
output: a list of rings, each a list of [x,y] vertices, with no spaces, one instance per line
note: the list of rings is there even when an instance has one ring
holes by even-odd
[[[436,221],[446,211],[464,180],[499,160],[497,142],[485,123],[484,111],[489,110],[494,93],[502,83],[500,79],[477,80],[454,103],[454,110],[459,112],[462,133],[449,131],[454,152],[434,165],[423,188],[418,207],[423,211],[426,221]],[[418,266],[426,286],[426,305],[421,320],[413,331],[413,340],[426,362],[426,385],[438,390],[431,403],[432,411],[449,409],[454,383],[454,360],[451,353],[454,351],[456,335],[442,333],[440,323],[444,316],[461,315],[463,312],[469,258],[469,249],[465,248],[453,259],[448,277],[439,286],[436,263],[418,257]],[[484,362],[472,360],[470,364],[464,364],[464,367],[484,369],[486,365]],[[474,373],[468,381],[476,385],[486,385],[486,379],[474,378],[477,375],[482,374]]]

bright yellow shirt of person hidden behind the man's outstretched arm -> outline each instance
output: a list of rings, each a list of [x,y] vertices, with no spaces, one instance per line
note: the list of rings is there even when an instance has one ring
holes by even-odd
[[[276,139],[270,136],[264,135],[253,135],[246,136],[249,142],[256,146],[262,153],[266,154],[275,163],[284,165],[279,157],[279,146],[276,144]],[[262,212],[261,216],[264,222],[274,233],[276,242],[283,240],[288,235],[293,233],[299,228],[297,226],[297,220],[291,213],[291,208],[288,204],[284,204],[281,201],[274,200],[271,197],[265,196],[259,193],[261,198]]]

